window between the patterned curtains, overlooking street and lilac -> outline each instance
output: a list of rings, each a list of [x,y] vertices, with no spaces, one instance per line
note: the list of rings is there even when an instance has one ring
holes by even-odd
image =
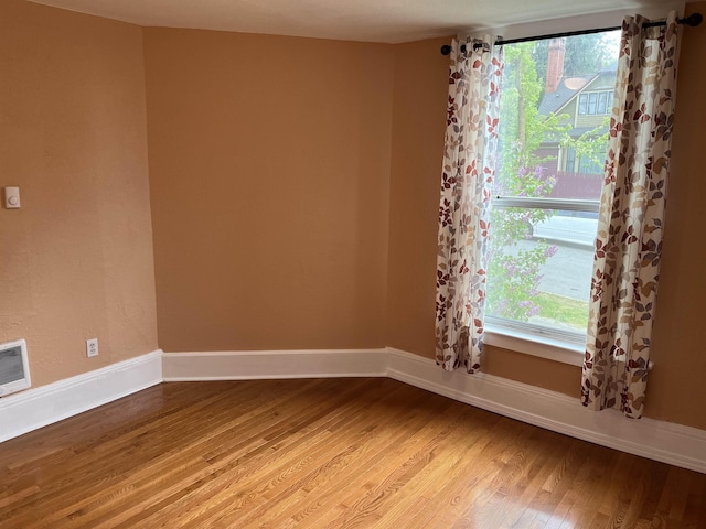
[[[575,101],[579,114],[610,114],[612,91],[590,85],[614,84],[619,32],[556,41],[504,50],[486,327],[578,348],[586,339],[608,120],[579,129],[561,109]],[[545,79],[557,71],[558,79]]]

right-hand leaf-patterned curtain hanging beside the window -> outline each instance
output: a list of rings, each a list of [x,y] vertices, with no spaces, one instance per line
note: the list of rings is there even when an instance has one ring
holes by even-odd
[[[676,12],[627,17],[591,280],[581,401],[640,418],[662,250],[676,83]]]

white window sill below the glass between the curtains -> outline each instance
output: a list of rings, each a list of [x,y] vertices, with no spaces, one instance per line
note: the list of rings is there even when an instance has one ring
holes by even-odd
[[[584,365],[585,347],[582,345],[567,344],[516,330],[486,324],[484,343],[561,364],[579,367]]]

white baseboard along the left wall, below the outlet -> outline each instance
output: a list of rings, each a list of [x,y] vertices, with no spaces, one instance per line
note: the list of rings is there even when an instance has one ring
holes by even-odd
[[[83,413],[162,381],[154,350],[0,399],[0,442]]]

